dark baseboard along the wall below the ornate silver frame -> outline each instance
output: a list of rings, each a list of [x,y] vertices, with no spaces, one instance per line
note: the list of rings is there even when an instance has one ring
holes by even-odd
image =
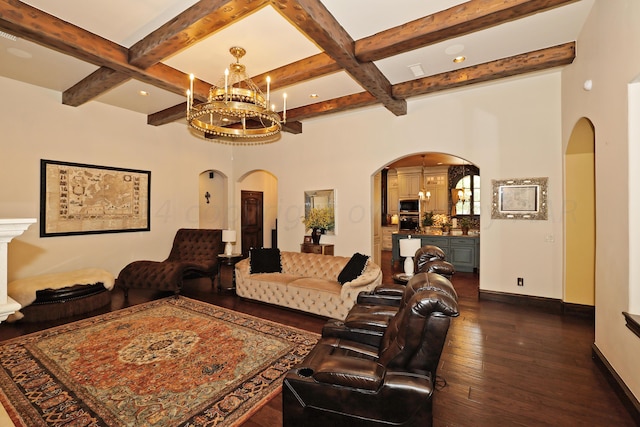
[[[480,300],[498,301],[508,304],[525,305],[554,314],[580,316],[595,320],[595,307],[590,305],[566,303],[556,298],[536,297],[532,295],[510,294],[507,292],[480,289]]]

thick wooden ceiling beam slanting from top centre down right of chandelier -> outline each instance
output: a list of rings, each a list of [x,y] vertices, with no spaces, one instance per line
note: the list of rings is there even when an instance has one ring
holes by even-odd
[[[318,0],[272,0],[276,9],[320,46],[368,92],[395,115],[407,113],[407,103],[394,99],[391,83],[371,62],[360,63],[354,41]]]

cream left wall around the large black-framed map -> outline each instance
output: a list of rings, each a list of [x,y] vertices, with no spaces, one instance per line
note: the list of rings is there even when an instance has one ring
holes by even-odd
[[[198,175],[231,175],[230,148],[153,127],[146,116],[97,102],[64,106],[61,94],[0,78],[0,217],[39,218],[40,159],[151,171],[151,231],[39,237],[32,225],[9,244],[9,281],[101,267],[117,274],[136,259],[167,257],[180,227],[198,227]]]

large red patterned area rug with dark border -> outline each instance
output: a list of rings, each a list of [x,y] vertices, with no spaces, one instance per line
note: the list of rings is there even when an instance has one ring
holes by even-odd
[[[232,426],[318,336],[185,297],[0,343],[17,426]]]

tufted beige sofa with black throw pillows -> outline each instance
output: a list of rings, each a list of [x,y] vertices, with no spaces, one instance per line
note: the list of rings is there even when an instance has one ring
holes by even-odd
[[[249,259],[236,264],[236,293],[253,300],[344,320],[361,291],[382,283],[380,267],[369,260],[364,272],[340,285],[350,257],[281,252],[282,273],[249,273]]]

